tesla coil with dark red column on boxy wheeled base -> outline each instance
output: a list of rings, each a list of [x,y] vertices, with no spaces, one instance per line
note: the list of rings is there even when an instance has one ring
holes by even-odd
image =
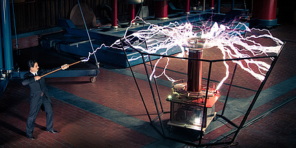
[[[202,53],[204,39],[189,39],[184,47],[189,47],[187,81],[172,84],[173,95],[168,125],[204,131],[215,117],[215,102],[220,97],[215,85],[202,86]]]

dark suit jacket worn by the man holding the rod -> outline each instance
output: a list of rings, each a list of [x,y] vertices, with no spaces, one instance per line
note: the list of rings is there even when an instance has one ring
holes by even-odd
[[[47,74],[48,72],[52,72],[54,70],[57,70],[58,68],[54,68],[52,70],[43,70],[40,69],[38,70],[37,74],[38,76],[43,76],[44,74]],[[39,79],[39,81],[35,81],[34,74],[32,72],[27,72],[25,75],[23,75],[23,85],[29,85],[31,89],[31,100],[32,99],[39,99],[42,92],[44,93],[43,95],[46,96],[47,100],[52,103],[50,100],[49,94],[48,94],[48,89],[45,85],[45,77],[43,76],[42,78]]]

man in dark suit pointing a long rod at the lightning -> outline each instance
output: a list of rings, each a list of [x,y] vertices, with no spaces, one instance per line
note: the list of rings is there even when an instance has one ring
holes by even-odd
[[[25,133],[27,138],[30,140],[35,140],[33,136],[34,125],[36,116],[43,105],[46,114],[46,131],[57,134],[58,132],[53,129],[53,111],[52,111],[52,101],[48,94],[48,89],[45,85],[45,78],[41,77],[48,72],[58,70],[59,67],[52,70],[39,70],[38,63],[34,60],[28,61],[28,67],[30,72],[23,76],[23,85],[29,85],[31,89],[31,101],[30,101],[30,113],[27,119],[27,125],[25,128]],[[69,65],[65,64],[61,66],[63,70],[67,69]]]

